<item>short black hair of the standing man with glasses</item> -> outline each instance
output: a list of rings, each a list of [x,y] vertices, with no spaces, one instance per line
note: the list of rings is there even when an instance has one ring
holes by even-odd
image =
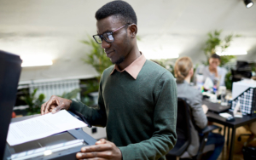
[[[112,1],[98,9],[95,14],[96,20],[102,20],[110,15],[115,15],[125,24],[136,24],[137,16],[129,3],[124,1]]]

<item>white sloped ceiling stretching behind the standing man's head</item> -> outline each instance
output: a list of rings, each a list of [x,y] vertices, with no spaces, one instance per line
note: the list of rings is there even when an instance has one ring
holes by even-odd
[[[95,77],[84,64],[90,48],[81,40],[96,33],[102,0],[0,0],[0,49],[34,60],[49,57],[53,66],[26,67],[20,82]],[[137,13],[139,49],[146,57],[165,54],[205,60],[201,51],[207,32],[240,34],[230,46],[246,50],[238,60],[256,60],[256,6],[242,0],[129,0]],[[256,3],[254,1],[254,3]]]

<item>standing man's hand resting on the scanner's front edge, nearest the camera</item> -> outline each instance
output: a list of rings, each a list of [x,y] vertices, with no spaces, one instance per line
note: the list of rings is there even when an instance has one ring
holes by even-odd
[[[78,159],[97,159],[97,160],[121,160],[122,152],[117,146],[108,140],[99,140],[94,146],[84,146],[81,152],[77,153]]]

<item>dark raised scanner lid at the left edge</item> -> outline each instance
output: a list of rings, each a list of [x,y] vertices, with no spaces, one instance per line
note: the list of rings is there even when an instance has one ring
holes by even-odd
[[[3,159],[9,123],[21,71],[20,56],[0,50],[0,159]]]

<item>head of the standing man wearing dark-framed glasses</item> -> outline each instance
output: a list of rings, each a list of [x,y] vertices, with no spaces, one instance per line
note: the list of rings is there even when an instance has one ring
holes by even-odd
[[[124,1],[113,1],[98,9],[95,17],[97,34],[102,35],[102,49],[112,63],[122,63],[137,44],[137,16],[134,10]]]

